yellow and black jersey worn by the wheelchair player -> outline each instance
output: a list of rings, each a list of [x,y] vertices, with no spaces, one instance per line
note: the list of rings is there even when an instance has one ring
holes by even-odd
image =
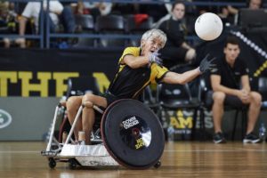
[[[150,67],[144,66],[138,69],[131,69],[122,63],[125,55],[141,55],[140,47],[127,47],[118,61],[117,74],[109,85],[109,93],[119,99],[136,99],[142,90],[150,83],[158,83],[166,75],[168,69],[152,63]]]

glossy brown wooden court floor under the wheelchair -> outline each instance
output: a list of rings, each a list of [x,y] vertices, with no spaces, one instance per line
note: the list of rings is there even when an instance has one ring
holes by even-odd
[[[44,142],[0,142],[0,177],[267,177],[266,143],[169,142],[162,166],[147,170],[122,166],[70,170],[67,163],[50,169],[47,158],[40,155],[45,147]]]

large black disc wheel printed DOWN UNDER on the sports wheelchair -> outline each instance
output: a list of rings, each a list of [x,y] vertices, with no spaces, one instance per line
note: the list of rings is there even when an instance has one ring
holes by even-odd
[[[142,102],[115,101],[101,119],[102,140],[122,166],[145,169],[158,165],[165,138],[158,117]]]

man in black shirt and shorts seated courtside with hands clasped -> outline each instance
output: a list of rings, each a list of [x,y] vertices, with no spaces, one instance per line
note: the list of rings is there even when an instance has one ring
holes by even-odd
[[[216,60],[214,69],[211,70],[211,85],[213,88],[213,117],[214,117],[214,142],[225,142],[222,132],[223,106],[234,107],[249,105],[247,133],[243,142],[260,142],[253,134],[257,117],[261,109],[262,96],[251,91],[249,85],[248,69],[244,61],[239,59],[239,41],[233,36],[227,38],[221,60]],[[240,84],[240,86],[239,86]]]

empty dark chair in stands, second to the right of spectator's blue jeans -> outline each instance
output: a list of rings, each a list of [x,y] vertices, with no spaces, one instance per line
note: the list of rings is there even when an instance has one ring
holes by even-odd
[[[95,31],[103,36],[98,42],[101,47],[125,47],[126,40],[124,37],[116,35],[125,34],[125,21],[120,15],[98,16],[95,24]]]

